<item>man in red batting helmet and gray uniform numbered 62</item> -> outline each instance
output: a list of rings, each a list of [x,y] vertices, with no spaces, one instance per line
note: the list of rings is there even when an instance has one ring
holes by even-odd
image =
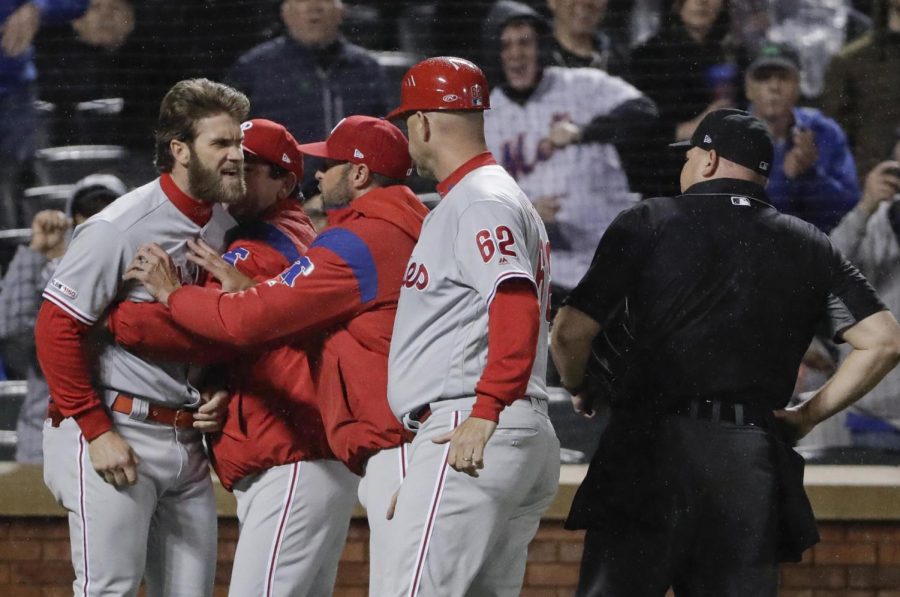
[[[388,369],[418,432],[387,538],[382,593],[519,595],[528,543],[559,483],[547,415],[547,233],[487,151],[481,70],[430,58],[403,78],[410,155],[437,179],[406,270]]]

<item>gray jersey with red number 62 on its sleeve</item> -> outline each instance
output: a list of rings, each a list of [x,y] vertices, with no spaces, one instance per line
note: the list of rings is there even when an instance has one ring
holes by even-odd
[[[541,327],[527,395],[546,398],[550,303],[547,233],[531,202],[489,154],[425,218],[407,266],[388,361],[388,401],[404,414],[475,396],[487,364],[488,308],[498,285],[531,280]],[[524,396],[523,396],[524,397]]]

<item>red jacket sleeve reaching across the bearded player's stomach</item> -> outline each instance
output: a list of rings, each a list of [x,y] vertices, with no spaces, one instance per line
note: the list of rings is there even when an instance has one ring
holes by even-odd
[[[110,310],[106,325],[117,344],[152,359],[206,365],[221,363],[240,354],[233,346],[207,340],[184,329],[160,303],[123,301]]]

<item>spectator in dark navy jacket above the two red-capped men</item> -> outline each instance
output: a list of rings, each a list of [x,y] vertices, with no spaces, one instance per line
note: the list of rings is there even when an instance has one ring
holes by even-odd
[[[284,124],[300,143],[324,139],[344,116],[387,113],[384,73],[339,33],[341,0],[283,0],[287,34],[241,56],[227,81],[245,92],[254,116]],[[317,163],[307,163],[305,194]]]

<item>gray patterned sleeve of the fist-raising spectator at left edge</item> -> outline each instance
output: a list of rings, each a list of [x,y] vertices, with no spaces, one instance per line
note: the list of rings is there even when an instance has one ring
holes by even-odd
[[[9,262],[0,288],[0,340],[33,333],[47,263],[46,257],[25,245]]]

